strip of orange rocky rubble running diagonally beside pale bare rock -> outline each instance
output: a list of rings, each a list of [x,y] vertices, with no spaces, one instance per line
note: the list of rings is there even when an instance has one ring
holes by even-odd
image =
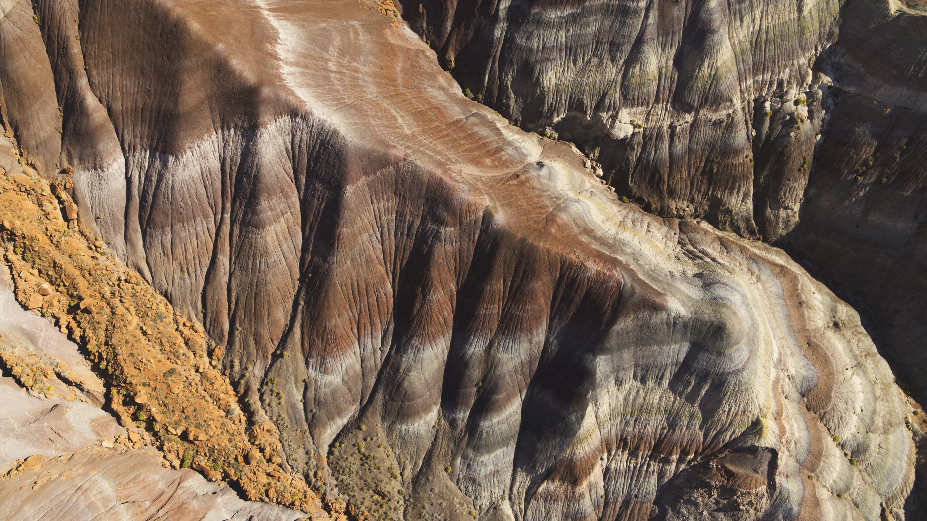
[[[69,229],[62,218],[69,206],[70,196],[53,194],[45,180],[0,176],[4,260],[17,300],[83,347],[121,423],[150,432],[174,468],[228,480],[249,500],[347,519],[343,503],[324,501],[281,465],[277,429],[259,405],[242,410],[217,368],[222,348],[107,254],[104,242]],[[23,378],[32,387],[35,378]]]

